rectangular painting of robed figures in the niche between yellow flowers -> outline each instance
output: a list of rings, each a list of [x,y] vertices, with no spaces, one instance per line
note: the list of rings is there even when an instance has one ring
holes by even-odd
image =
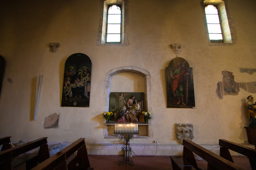
[[[109,111],[114,113],[110,121],[116,123],[138,123],[140,115],[144,111],[144,93],[111,92]]]

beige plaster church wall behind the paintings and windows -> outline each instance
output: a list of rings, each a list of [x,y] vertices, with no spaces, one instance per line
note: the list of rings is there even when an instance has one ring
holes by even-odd
[[[199,144],[218,143],[220,138],[247,140],[244,126],[249,122],[242,104],[250,93],[240,89],[237,96],[221,100],[215,90],[222,70],[233,72],[236,82],[256,80],[256,73],[239,72],[240,67],[256,65],[255,7],[252,0],[227,1],[236,43],[209,46],[200,0],[129,0],[129,45],[98,46],[99,1],[1,1],[0,55],[7,64],[0,97],[0,136],[12,136],[13,141],[48,137],[50,142],[73,142],[85,137],[86,143],[119,142],[104,138],[105,76],[113,68],[136,66],[150,73],[153,118],[150,137],[132,142],[178,143],[174,123],[192,123],[193,141]],[[58,53],[49,51],[49,42],[60,43]],[[194,109],[166,108],[165,68],[176,57],[171,43],[181,44],[178,57],[193,67]],[[74,53],[84,53],[92,61],[88,108],[60,107],[64,63]],[[39,74],[43,80],[38,116],[32,121]],[[59,128],[44,129],[44,118],[54,112],[60,113]]]

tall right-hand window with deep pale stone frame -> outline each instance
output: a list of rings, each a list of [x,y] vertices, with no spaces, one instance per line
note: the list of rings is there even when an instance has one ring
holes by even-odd
[[[203,2],[209,45],[234,43],[235,33],[232,28],[234,21],[228,18],[224,0],[204,0]]]

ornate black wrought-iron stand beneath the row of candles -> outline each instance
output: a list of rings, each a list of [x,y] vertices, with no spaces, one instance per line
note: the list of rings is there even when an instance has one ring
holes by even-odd
[[[130,153],[132,152],[132,148],[130,147],[130,139],[133,139],[133,135],[120,135],[120,139],[124,139],[125,147],[122,147],[122,152],[124,152],[123,159],[119,160],[119,165],[124,164],[124,162],[128,162],[129,165],[133,165],[133,161],[130,160]]]

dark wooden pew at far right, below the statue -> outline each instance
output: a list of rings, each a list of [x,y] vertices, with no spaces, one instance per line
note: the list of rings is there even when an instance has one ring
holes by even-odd
[[[220,139],[219,145],[220,156],[234,163],[228,149],[233,150],[235,152],[243,154],[244,156],[247,156],[249,158],[252,169],[256,170],[256,149],[244,147],[243,145],[239,145],[234,142],[227,141],[225,139]]]

